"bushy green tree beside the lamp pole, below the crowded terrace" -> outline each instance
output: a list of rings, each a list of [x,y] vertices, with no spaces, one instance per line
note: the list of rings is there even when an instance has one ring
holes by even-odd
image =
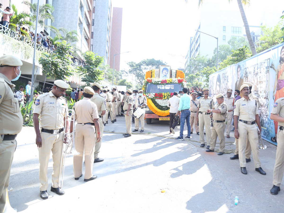
[[[65,80],[74,73],[70,53],[72,54],[72,47],[66,41],[58,42],[56,50],[53,53],[42,53],[39,58],[43,73],[48,79]]]

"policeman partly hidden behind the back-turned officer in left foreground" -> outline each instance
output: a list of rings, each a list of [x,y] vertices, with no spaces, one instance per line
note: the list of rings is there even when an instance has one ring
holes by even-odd
[[[101,149],[101,144],[103,140],[103,131],[104,131],[104,125],[103,125],[103,117],[106,114],[106,104],[105,99],[99,95],[100,91],[100,85],[99,83],[93,83],[92,89],[95,91],[95,94],[91,98],[91,101],[94,102],[97,105],[97,110],[99,114],[99,123],[100,123],[100,132],[101,132],[101,139],[99,141],[96,140],[95,145],[95,153],[94,153],[94,163],[102,162],[104,159],[99,158],[99,152]],[[96,131],[96,137],[98,136],[98,132]]]

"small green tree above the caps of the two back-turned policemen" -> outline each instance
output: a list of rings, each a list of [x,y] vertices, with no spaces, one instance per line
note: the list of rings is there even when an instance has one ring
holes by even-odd
[[[83,53],[83,59],[85,66],[79,66],[77,70],[82,76],[82,81],[86,83],[86,86],[91,86],[91,83],[103,80],[103,71],[99,69],[99,66],[103,63],[104,58],[96,53],[87,51]]]

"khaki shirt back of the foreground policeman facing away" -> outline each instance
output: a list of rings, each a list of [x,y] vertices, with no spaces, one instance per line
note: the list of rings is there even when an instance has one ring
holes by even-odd
[[[89,98],[83,98],[76,102],[73,108],[78,123],[94,123],[94,119],[99,118],[97,105]]]

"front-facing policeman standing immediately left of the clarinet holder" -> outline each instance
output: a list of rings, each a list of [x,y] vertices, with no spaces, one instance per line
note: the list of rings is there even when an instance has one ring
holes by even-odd
[[[199,121],[199,139],[201,142],[200,147],[205,146],[205,140],[204,140],[204,126],[206,131],[206,142],[207,142],[207,149],[210,147],[210,140],[211,140],[211,119],[210,119],[210,113],[207,113],[208,107],[212,105],[212,109],[214,109],[214,101],[211,97],[209,97],[209,89],[204,88],[203,89],[204,97],[201,97],[199,99],[199,105],[197,105],[197,122]]]

